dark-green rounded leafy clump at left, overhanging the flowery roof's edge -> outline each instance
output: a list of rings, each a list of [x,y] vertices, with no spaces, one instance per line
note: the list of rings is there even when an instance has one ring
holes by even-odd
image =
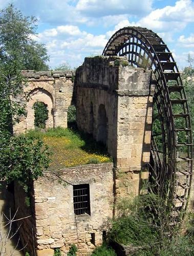
[[[0,180],[18,181],[26,191],[31,180],[42,176],[50,163],[49,148],[31,135],[10,137],[0,155]]]

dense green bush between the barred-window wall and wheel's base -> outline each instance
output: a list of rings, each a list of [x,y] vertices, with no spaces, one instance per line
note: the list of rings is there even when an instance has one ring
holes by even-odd
[[[134,201],[121,200],[117,205],[118,218],[112,223],[109,239],[125,245],[154,244],[158,238],[158,227],[153,221],[154,209],[149,209],[154,200],[159,200],[154,194],[141,195]]]

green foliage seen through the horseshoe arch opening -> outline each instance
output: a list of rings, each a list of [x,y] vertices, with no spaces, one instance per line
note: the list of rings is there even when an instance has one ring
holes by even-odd
[[[37,101],[33,105],[34,108],[34,125],[45,129],[46,121],[48,119],[48,109],[47,105],[44,102]]]

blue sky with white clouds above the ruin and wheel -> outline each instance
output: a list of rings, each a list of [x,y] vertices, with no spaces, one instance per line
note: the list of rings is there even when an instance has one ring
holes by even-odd
[[[37,35],[50,56],[49,66],[82,65],[84,57],[101,55],[114,32],[127,26],[152,29],[167,44],[179,69],[194,57],[192,0],[0,0],[37,17]]]

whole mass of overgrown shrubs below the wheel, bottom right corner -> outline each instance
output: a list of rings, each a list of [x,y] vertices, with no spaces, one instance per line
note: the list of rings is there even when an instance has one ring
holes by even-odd
[[[160,196],[148,193],[134,200],[122,199],[117,214],[111,222],[109,241],[130,246],[131,255],[194,255],[193,216],[184,233],[179,226],[171,228],[171,207]]]

